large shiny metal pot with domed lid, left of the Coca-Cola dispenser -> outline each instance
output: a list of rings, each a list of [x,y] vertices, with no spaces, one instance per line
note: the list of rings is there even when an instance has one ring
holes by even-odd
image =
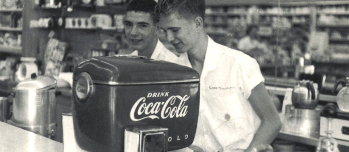
[[[8,123],[54,140],[57,126],[55,97],[60,94],[56,92],[56,85],[54,77],[33,73],[18,83],[13,91],[0,89],[0,95],[7,95],[7,92],[13,97],[13,112]],[[7,103],[2,108],[9,109],[8,106]],[[9,112],[5,113],[3,118],[9,119],[8,115]]]

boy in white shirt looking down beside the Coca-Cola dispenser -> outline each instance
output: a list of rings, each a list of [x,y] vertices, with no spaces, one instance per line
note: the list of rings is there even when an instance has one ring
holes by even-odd
[[[155,15],[166,39],[188,54],[200,74],[198,127],[190,149],[251,152],[272,143],[281,123],[259,65],[206,34],[205,0],[159,0]]]

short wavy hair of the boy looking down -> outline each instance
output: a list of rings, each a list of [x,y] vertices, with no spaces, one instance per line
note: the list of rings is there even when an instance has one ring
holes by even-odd
[[[178,12],[180,17],[187,19],[205,18],[205,0],[159,0],[155,8],[155,17],[170,15]]]

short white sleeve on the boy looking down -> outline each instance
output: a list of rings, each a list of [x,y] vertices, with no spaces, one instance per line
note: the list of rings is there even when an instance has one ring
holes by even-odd
[[[260,67],[257,61],[250,56],[244,57],[245,59],[240,58],[239,66],[239,87],[244,93],[244,98],[248,99],[251,95],[252,89],[264,82],[264,77],[260,71]]]

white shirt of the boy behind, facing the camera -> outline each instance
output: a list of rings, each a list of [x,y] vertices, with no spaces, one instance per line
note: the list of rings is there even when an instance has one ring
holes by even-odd
[[[131,55],[138,56],[138,51],[133,51]],[[170,50],[168,50],[160,40],[157,40],[156,47],[154,49],[153,54],[151,54],[151,59],[154,60],[163,60],[168,61],[172,63],[176,63],[179,65],[191,67],[191,64],[188,59],[187,53],[181,54],[179,57],[176,56],[176,54],[172,53]]]

